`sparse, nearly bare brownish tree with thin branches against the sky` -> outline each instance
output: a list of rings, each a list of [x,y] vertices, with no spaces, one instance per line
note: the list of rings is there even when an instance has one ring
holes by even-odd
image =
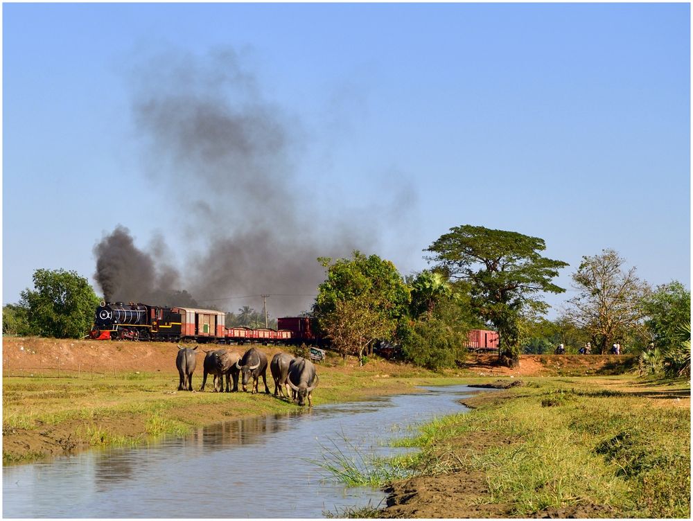
[[[642,300],[649,292],[635,267],[625,269],[625,259],[613,249],[584,256],[572,275],[577,296],[568,301],[565,317],[590,334],[597,353],[622,342],[642,326]]]

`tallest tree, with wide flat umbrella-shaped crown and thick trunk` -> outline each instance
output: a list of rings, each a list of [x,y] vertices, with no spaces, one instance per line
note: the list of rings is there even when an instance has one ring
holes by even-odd
[[[509,365],[519,363],[527,318],[549,307],[539,294],[565,291],[552,279],[568,264],[542,256],[545,249],[541,238],[466,224],[451,228],[426,250],[439,270],[469,283],[470,305],[498,330],[499,355]]]

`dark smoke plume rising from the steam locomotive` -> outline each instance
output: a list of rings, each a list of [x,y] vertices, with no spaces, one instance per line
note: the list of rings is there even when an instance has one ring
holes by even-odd
[[[94,250],[107,297],[146,301],[184,287],[202,307],[235,310],[245,302],[227,297],[272,294],[268,307],[283,316],[310,308],[324,279],[317,257],[372,251],[374,224],[320,213],[319,194],[295,172],[306,146],[299,118],[263,98],[234,51],[159,56],[135,78],[147,175],[176,202],[189,249],[177,271],[116,228]]]

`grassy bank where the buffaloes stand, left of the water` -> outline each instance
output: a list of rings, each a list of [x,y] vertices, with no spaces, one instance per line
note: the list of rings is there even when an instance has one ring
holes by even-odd
[[[369,394],[410,391],[426,383],[429,373],[392,367],[380,373],[329,364],[320,367],[315,404],[355,400]],[[98,378],[34,375],[3,378],[3,464],[32,461],[95,445],[128,445],[152,436],[183,435],[196,427],[221,421],[290,412],[294,403],[272,394],[177,391],[172,371],[116,371]],[[391,374],[392,373],[392,374]],[[412,378],[416,376],[416,378]],[[199,389],[202,381],[195,378]],[[264,387],[260,382],[259,388]]]

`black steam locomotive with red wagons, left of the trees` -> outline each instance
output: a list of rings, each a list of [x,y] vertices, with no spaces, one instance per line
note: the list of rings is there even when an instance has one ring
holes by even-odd
[[[128,339],[159,342],[213,344],[307,344],[321,345],[315,319],[283,317],[277,329],[227,328],[225,313],[197,308],[162,308],[143,303],[102,301],[94,316],[89,337],[97,340]]]

